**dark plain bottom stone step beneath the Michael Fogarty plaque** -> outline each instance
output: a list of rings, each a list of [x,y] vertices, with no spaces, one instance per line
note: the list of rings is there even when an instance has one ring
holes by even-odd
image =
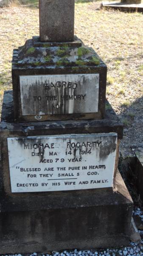
[[[116,192],[112,188],[67,191],[62,195],[52,192],[35,199],[31,195],[29,200],[4,196],[0,253],[128,245],[132,199],[119,172],[116,187]]]

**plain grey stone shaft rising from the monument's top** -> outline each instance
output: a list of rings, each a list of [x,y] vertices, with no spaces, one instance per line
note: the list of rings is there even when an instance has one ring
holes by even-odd
[[[41,41],[73,41],[75,0],[39,0]]]

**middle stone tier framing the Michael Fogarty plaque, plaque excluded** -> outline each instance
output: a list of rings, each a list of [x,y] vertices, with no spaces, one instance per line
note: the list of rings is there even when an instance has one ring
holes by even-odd
[[[113,111],[112,107],[107,103],[107,111],[105,119],[100,120],[68,120],[68,121],[46,121],[46,122],[14,122],[13,97],[11,91],[6,91],[3,98],[3,108],[0,123],[0,143],[4,191],[11,198],[17,198],[16,193],[11,193],[11,182],[9,175],[8,160],[8,144],[9,137],[33,137],[33,136],[49,136],[60,134],[99,134],[99,133],[117,133],[117,147],[114,168],[114,178],[118,166],[118,148],[120,139],[123,136],[123,124]],[[17,147],[15,147],[17,150]],[[49,192],[45,192],[48,193]],[[52,194],[53,192],[51,192]],[[23,198],[31,198],[31,193],[21,193]],[[39,192],[34,193],[34,198],[41,195]],[[43,195],[43,194],[42,194]],[[43,195],[45,198],[45,194]],[[34,200],[35,200],[34,199]],[[15,204],[17,204],[15,202]]]

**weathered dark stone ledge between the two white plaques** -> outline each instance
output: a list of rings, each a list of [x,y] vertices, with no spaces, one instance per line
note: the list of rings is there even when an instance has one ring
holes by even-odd
[[[12,90],[5,91],[1,114],[0,134],[15,133],[19,136],[37,136],[53,134],[106,133],[116,132],[118,139],[123,138],[123,124],[112,106],[106,101],[107,110],[104,119],[62,120],[44,122],[15,122]]]

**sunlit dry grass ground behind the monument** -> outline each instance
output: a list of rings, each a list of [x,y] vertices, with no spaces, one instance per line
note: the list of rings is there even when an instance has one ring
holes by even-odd
[[[37,2],[33,3],[37,5]],[[138,121],[139,116],[143,119],[143,14],[96,10],[95,7],[96,3],[91,1],[76,3],[75,34],[93,47],[107,64],[107,99],[116,113],[125,119],[126,129],[134,128],[137,122],[136,128],[140,127],[140,123],[143,127],[143,122]],[[20,6],[0,9],[1,101],[3,90],[11,89],[13,49],[38,34],[37,8]],[[129,116],[130,112],[133,116]]]

